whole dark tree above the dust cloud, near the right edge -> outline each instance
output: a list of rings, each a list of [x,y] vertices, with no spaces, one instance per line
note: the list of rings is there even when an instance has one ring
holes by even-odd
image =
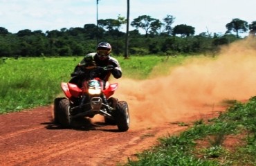
[[[237,34],[237,38],[239,38],[239,33],[246,33],[248,30],[247,21],[241,19],[232,19],[232,21],[226,24],[226,28],[228,29],[226,33],[231,33],[231,31]]]

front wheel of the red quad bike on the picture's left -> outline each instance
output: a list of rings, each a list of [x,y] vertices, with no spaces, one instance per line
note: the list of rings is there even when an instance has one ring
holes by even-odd
[[[57,120],[62,127],[70,127],[71,125],[70,102],[66,98],[62,98],[59,102]]]

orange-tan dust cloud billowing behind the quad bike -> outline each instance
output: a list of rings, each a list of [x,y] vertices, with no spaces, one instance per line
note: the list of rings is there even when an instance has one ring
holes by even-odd
[[[164,77],[122,78],[118,84],[115,96],[128,102],[131,128],[203,116],[217,111],[223,100],[248,100],[256,95],[256,39],[223,47],[217,58],[194,58]]]

